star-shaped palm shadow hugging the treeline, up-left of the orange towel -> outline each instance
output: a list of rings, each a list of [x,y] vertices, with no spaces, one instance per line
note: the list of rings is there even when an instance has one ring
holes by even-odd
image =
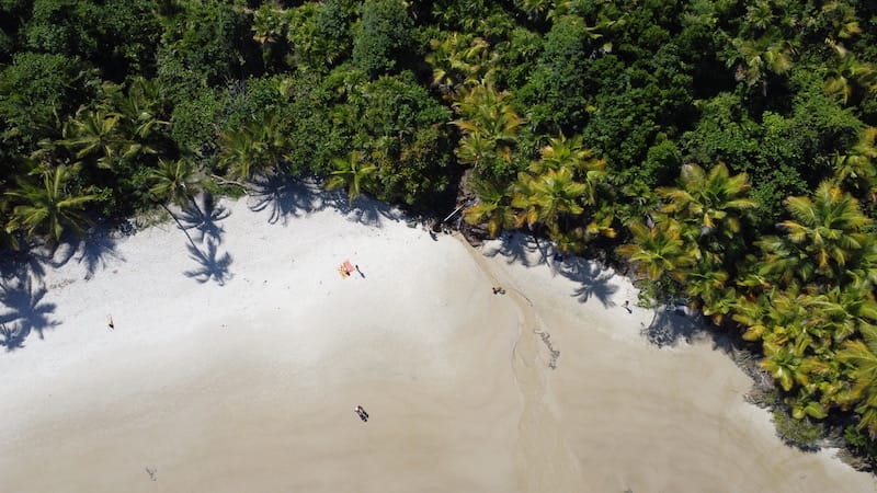
[[[324,193],[314,180],[296,182],[287,173],[272,173],[255,176],[250,193],[250,210],[269,211],[267,221],[272,225],[291,217],[300,217],[326,208]]]

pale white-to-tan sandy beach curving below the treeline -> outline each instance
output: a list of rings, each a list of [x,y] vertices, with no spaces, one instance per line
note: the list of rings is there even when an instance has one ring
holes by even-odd
[[[627,279],[327,197],[221,200],[197,250],[169,221],[4,272],[0,491],[877,490],[784,446],[711,339],[650,344]]]

